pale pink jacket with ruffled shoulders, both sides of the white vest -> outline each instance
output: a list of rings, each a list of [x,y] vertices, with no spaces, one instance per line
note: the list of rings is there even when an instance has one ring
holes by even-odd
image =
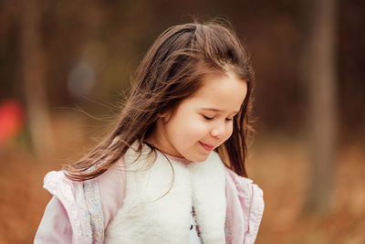
[[[264,212],[262,190],[228,168],[225,172],[226,243],[255,243]],[[123,205],[120,186],[125,186],[120,171],[108,170],[87,182],[69,180],[62,171],[49,172],[44,188],[53,197],[35,243],[102,243],[105,228]]]

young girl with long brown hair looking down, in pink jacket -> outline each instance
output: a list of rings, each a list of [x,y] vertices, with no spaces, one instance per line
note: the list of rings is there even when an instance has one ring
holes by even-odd
[[[262,191],[246,178],[253,70],[218,24],[170,27],[141,62],[104,141],[50,172],[36,243],[254,243]]]

